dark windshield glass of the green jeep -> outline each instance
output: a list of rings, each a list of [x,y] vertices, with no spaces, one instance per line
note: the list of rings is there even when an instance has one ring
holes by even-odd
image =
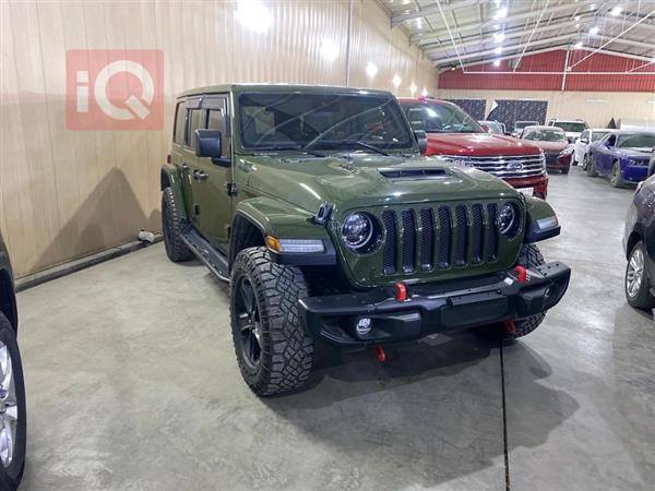
[[[248,149],[414,149],[396,99],[383,95],[246,93],[239,110]]]

